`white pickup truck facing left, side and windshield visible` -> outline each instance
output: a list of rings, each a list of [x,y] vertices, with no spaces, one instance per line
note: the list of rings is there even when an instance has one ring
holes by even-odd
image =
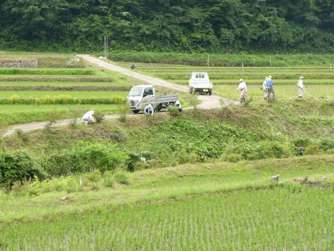
[[[134,114],[137,114],[151,103],[156,111],[168,106],[174,106],[179,100],[177,94],[167,96],[156,96],[155,88],[151,84],[133,86],[127,95],[127,105]]]

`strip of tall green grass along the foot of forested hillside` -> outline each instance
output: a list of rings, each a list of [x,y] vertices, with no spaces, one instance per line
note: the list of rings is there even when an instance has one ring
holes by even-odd
[[[113,61],[139,63],[170,63],[191,66],[207,66],[207,57],[211,66],[256,67],[296,67],[334,65],[332,54],[189,54],[173,52],[110,52]],[[129,67],[130,65],[128,65]]]

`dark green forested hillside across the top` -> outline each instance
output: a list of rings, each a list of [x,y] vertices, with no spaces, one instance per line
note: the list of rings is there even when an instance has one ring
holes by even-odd
[[[0,48],[334,52],[333,0],[0,0]]]

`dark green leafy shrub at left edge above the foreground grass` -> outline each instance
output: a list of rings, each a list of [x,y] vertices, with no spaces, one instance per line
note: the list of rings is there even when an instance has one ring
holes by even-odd
[[[35,177],[43,178],[26,151],[0,153],[0,174],[0,185],[6,189],[10,189],[15,181],[22,183]]]

